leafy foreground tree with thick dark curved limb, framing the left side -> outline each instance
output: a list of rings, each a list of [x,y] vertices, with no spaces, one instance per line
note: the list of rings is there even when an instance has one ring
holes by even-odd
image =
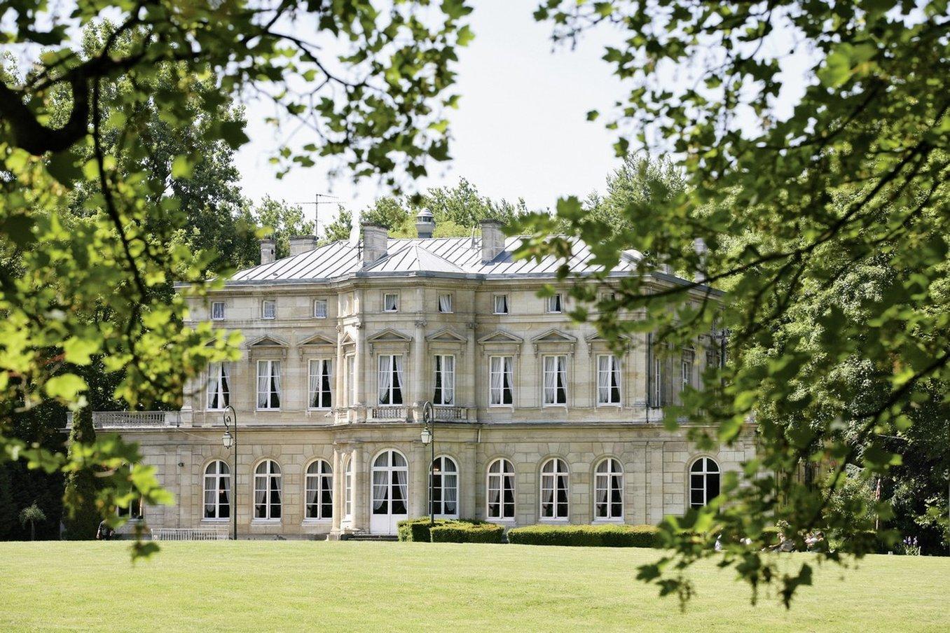
[[[149,113],[184,134],[196,103],[214,112],[255,94],[275,102],[276,122],[295,118],[317,139],[281,151],[279,170],[321,157],[398,188],[425,176],[429,160],[448,158],[454,51],[471,39],[464,2],[447,0],[424,21],[420,4],[428,5],[238,0],[182,11],[159,0],[69,12],[28,0],[10,8],[2,34],[26,70],[5,61],[0,72],[0,456],[49,473],[135,464],[104,477],[105,514],[133,497],[169,501],[137,447],[119,438],[73,444],[66,456],[9,434],[15,412],[43,401],[82,409],[82,368],[94,357],[121,373],[112,396],[132,407],[174,406],[206,363],[236,357],[237,340],[209,345],[219,335],[185,327],[183,298],[164,291],[171,280],[193,283],[196,294],[220,282],[205,282],[214,253],[189,248],[186,212],[168,192],[169,176],[200,178],[202,157],[181,153],[168,173],[150,170]],[[77,27],[104,16],[112,22],[85,48],[72,46]],[[288,28],[297,21],[306,28]],[[326,53],[331,40],[339,46]],[[194,81],[209,76],[215,90]],[[131,89],[111,90],[118,85]],[[206,123],[196,132],[205,142],[235,150],[247,140],[241,121]],[[75,314],[107,319],[64,318]],[[137,541],[133,553],[154,549]]]

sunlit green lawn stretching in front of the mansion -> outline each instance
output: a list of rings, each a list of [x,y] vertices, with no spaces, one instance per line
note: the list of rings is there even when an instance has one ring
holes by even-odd
[[[824,567],[790,611],[712,564],[686,613],[656,550],[424,543],[0,543],[0,630],[950,630],[950,558]],[[786,554],[788,563],[807,554]]]

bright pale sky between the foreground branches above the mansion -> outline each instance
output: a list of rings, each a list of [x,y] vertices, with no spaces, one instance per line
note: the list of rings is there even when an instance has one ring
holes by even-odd
[[[462,99],[449,116],[452,160],[430,163],[430,176],[416,182],[419,190],[466,177],[483,195],[512,202],[523,197],[529,208],[550,208],[563,195],[603,190],[618,166],[614,134],[600,121],[586,121],[589,110],[607,109],[622,94],[600,59],[611,33],[594,33],[573,50],[553,48],[550,25],[531,16],[535,4],[476,4],[469,16],[475,40],[460,49],[456,65],[454,92]],[[237,155],[244,195],[299,203],[332,194],[356,210],[388,193],[370,179],[355,185],[347,177],[328,181],[319,162],[277,179],[268,158],[278,141],[263,121],[270,114],[267,105],[248,105],[251,142]],[[305,207],[308,215],[313,208]],[[335,205],[320,205],[321,231],[335,214]]]

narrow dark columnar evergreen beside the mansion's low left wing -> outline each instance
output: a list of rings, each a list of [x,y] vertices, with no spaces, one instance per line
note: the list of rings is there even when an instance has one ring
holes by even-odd
[[[85,406],[73,417],[72,428],[69,430],[70,453],[80,454],[83,448],[91,446],[95,439],[92,408]],[[86,541],[96,537],[96,530],[102,518],[96,505],[98,488],[96,474],[89,468],[77,468],[66,475],[66,516],[63,517],[66,531],[63,536],[67,540]]]

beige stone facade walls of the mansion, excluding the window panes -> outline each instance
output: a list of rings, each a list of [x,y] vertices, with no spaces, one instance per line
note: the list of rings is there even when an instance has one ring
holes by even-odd
[[[491,229],[484,231],[491,236]],[[460,249],[478,247],[475,240],[457,241]],[[440,240],[431,240],[436,242]],[[215,318],[217,326],[239,329],[244,337],[241,360],[226,370],[227,403],[234,407],[238,424],[237,493],[229,491],[229,499],[237,501],[242,536],[390,531],[373,512],[379,504],[372,486],[374,476],[383,476],[373,475],[373,461],[390,450],[408,462],[402,492],[387,493],[406,495],[406,512],[397,513],[428,514],[431,447],[422,443],[420,432],[422,405],[435,393],[436,355],[454,358],[453,398],[450,404],[437,403],[434,446],[436,456],[450,457],[457,467],[453,513],[461,517],[499,520],[506,526],[544,521],[656,523],[664,514],[688,508],[689,470],[697,458],[712,457],[721,471],[734,471],[752,456],[750,436],[707,455],[685,440],[684,430],[668,432],[660,423],[663,406],[675,402],[683,383],[696,384],[705,363],[716,362],[713,338],[662,355],[650,349],[646,337],[629,340],[617,355],[619,401],[602,404],[599,366],[605,365],[598,359],[615,350],[592,326],[572,323],[566,287],[558,289],[560,311],[552,311],[549,300],[538,296],[543,284],[554,282],[553,275],[453,274],[446,271],[450,262],[429,259],[426,240],[383,243],[383,254],[374,253],[378,256],[373,261],[389,262],[396,270],[376,273],[373,262],[362,261],[355,272],[337,277],[281,278],[275,272],[273,280],[231,282],[208,299],[192,301],[196,321]],[[393,253],[406,247],[416,249],[416,264],[398,270],[391,263]],[[305,250],[258,269],[282,262],[293,268],[296,260],[313,260],[319,252]],[[676,281],[656,278],[658,286]],[[395,309],[387,297],[393,294]],[[504,296],[507,313],[497,313],[499,296]],[[215,303],[223,304],[223,313]],[[390,355],[400,358],[401,402],[380,401],[380,357],[389,363]],[[490,400],[493,356],[511,359],[510,404]],[[561,357],[549,365],[562,368],[557,379],[563,382],[558,382],[562,392],[555,400],[564,396],[566,401],[560,404],[544,403],[546,356]],[[317,362],[324,360],[332,366],[332,403],[315,408],[309,406],[311,367],[322,366]],[[259,406],[260,368],[276,366],[279,406],[265,409]],[[272,379],[265,391],[273,388]],[[176,494],[175,506],[147,510],[153,529],[230,525],[229,519],[205,517],[205,469],[219,459],[231,470],[234,458],[221,444],[224,402],[209,397],[209,389],[218,390],[219,384],[208,376],[192,383],[174,423],[123,428],[123,436],[141,442],[144,460],[158,468],[162,485]],[[541,515],[542,465],[552,457],[561,459],[568,471],[566,480],[559,480],[566,488],[567,512],[557,519]],[[488,514],[488,469],[498,458],[514,468],[515,512],[505,519]],[[616,480],[620,483],[615,484],[620,486],[622,515],[610,519],[595,512],[595,469],[605,458],[617,460],[622,468]],[[276,520],[253,518],[254,473],[265,459],[280,469]],[[333,512],[322,519],[305,517],[305,473],[314,459],[326,460],[333,470]],[[348,463],[349,478],[344,475]],[[393,481],[397,477],[389,476]]]

